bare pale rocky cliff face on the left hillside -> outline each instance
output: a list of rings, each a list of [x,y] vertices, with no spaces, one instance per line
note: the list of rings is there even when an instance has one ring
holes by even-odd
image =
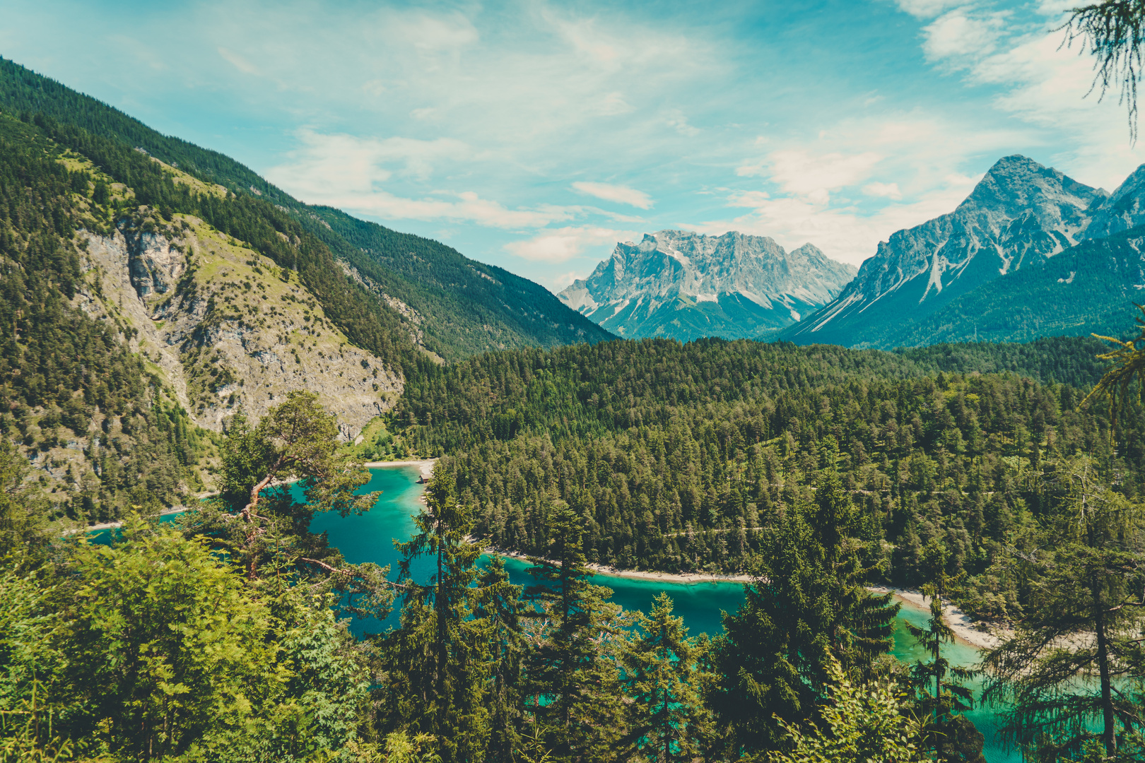
[[[124,328],[202,427],[239,410],[258,420],[306,389],[353,439],[401,395],[401,373],[350,344],[295,275],[196,217],[81,240],[76,303]]]

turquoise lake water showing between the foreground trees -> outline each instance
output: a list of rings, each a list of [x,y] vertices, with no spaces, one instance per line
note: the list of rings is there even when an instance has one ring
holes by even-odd
[[[355,564],[373,562],[379,565],[390,565],[396,575],[401,556],[394,549],[394,539],[406,540],[413,532],[412,515],[420,510],[419,498],[423,485],[419,485],[418,470],[413,467],[371,469],[372,478],[363,492],[382,491],[381,499],[374,508],[362,515],[339,517],[337,515],[318,515],[314,518],[311,528],[325,532],[332,546],[337,546],[347,562]],[[414,566],[416,577],[428,577],[432,563],[425,561]],[[528,564],[521,559],[506,559],[510,578],[514,583],[530,583],[526,573]],[[613,601],[630,610],[650,607],[653,598],[661,591],[666,591],[676,603],[676,614],[684,618],[692,635],[706,633],[719,634],[721,630],[721,612],[734,612],[743,603],[743,587],[734,582],[701,583],[666,583],[655,580],[634,580],[615,575],[597,575],[594,582],[613,589]],[[895,623],[894,655],[910,662],[923,658],[922,650],[915,644],[907,631],[906,622],[922,625],[927,612],[905,604]],[[385,622],[355,623],[354,630],[379,631],[397,625],[397,614],[392,614]],[[946,654],[951,662],[971,666],[978,661],[978,650],[965,643],[956,643],[946,647]],[[997,724],[990,708],[974,709],[968,713],[978,730],[986,736],[986,758],[990,763],[1017,763],[1021,760],[1019,753],[1003,747],[996,734]]]

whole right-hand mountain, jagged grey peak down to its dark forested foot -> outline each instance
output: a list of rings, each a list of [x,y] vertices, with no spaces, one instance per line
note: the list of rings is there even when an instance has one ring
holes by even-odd
[[[835,300],[780,336],[881,348],[1121,333],[1145,272],[1145,166],[1110,194],[1021,156],[946,215],[891,236]],[[1112,238],[1111,238],[1112,237]]]

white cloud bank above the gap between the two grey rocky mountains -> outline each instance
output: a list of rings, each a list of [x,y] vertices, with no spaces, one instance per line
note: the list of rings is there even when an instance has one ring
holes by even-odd
[[[728,192],[728,207],[745,214],[686,226],[771,236],[788,248],[811,241],[859,264],[895,230],[951,212],[980,178],[966,174],[968,162],[978,167],[1029,141],[1028,130],[976,128],[921,111],[845,119],[741,165],[741,177],[775,186]]]

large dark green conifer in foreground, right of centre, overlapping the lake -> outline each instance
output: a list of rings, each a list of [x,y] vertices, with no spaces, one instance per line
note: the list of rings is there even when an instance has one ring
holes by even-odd
[[[863,586],[856,516],[838,477],[819,483],[816,504],[797,504],[765,533],[740,611],[724,615],[713,644],[709,701],[729,753],[774,747],[775,718],[815,717],[837,660],[869,678],[891,649],[899,605]]]

